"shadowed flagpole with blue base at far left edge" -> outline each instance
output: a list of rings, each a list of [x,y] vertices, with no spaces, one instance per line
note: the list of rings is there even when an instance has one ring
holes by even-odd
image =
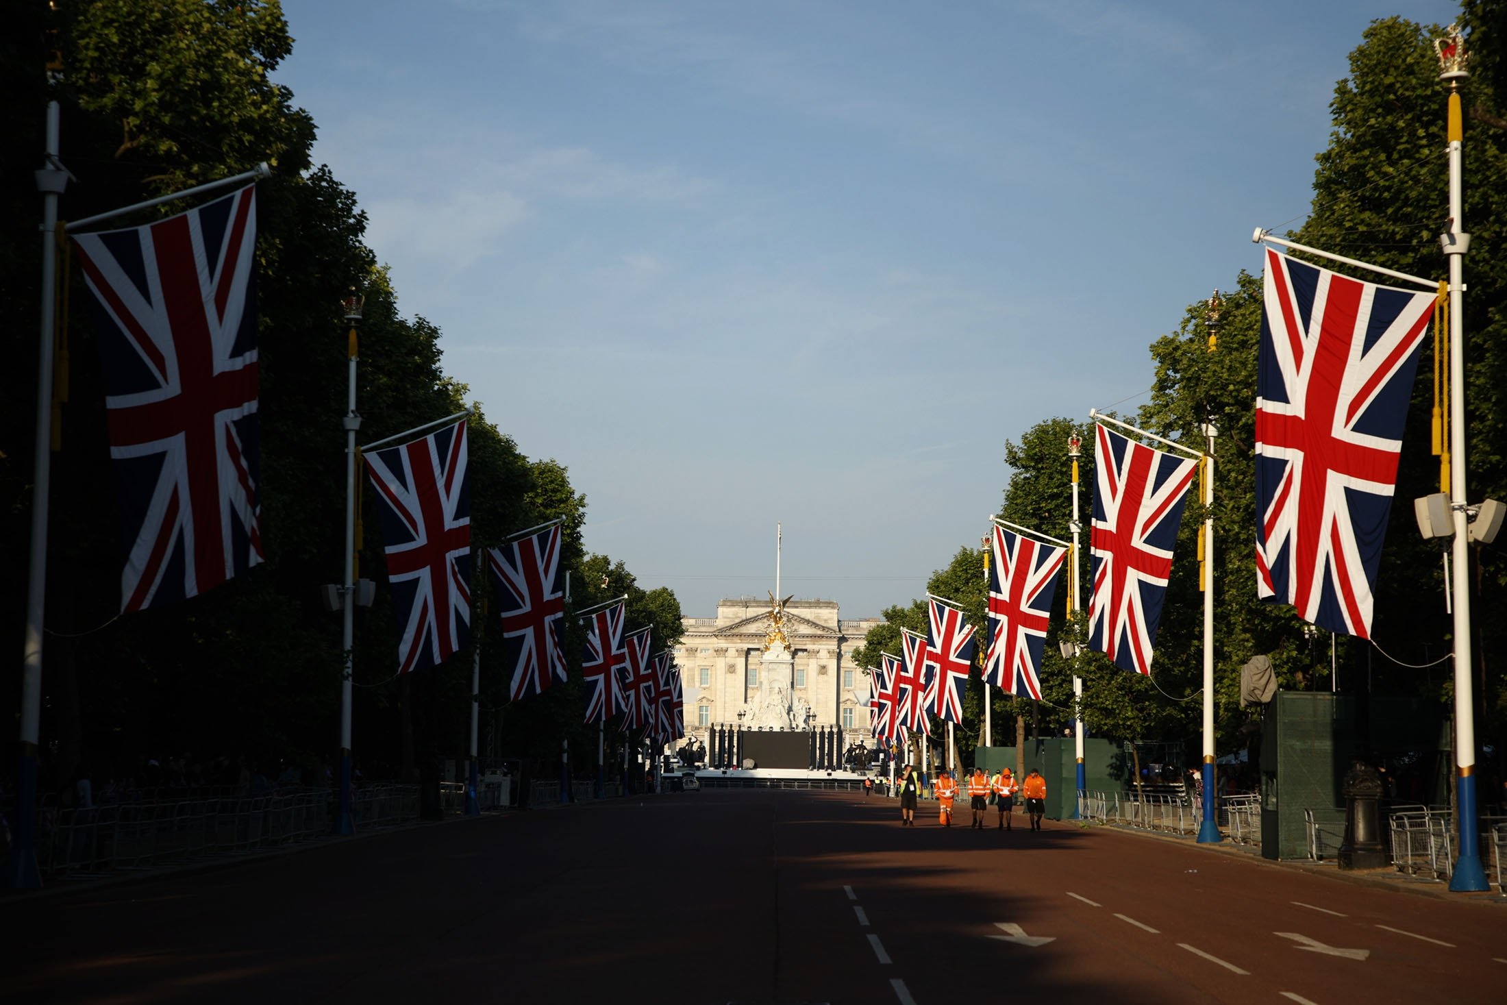
[[[32,490],[32,556],[26,594],[26,642],[21,657],[20,787],[15,832],[5,860],[5,884],[36,889],[36,753],[42,719],[42,628],[47,600],[47,515],[53,466],[53,295],[57,283],[57,197],[68,185],[68,169],[57,160],[59,107],[47,102],[47,151],[36,170],[42,193],[42,312],[36,351],[36,457]]]

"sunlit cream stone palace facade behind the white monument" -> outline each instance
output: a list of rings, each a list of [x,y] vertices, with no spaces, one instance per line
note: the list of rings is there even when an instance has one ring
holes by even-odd
[[[716,618],[684,618],[686,634],[675,660],[686,689],[686,732],[705,740],[713,723],[738,725],[760,705],[761,687],[790,687],[797,728],[868,729],[868,677],[853,660],[879,618],[839,618],[835,600],[791,600],[784,606],[784,633],[793,663],[766,667],[770,604],[757,597],[717,603]],[[787,657],[790,658],[790,657]],[[788,667],[788,669],[787,669]],[[784,669],[788,681],[767,681],[766,669]]]

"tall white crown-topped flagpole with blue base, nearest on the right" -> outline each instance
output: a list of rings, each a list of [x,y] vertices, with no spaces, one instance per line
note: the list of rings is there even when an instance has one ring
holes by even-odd
[[[1471,235],[1463,229],[1462,160],[1465,125],[1460,113],[1460,84],[1465,71],[1465,39],[1459,27],[1450,26],[1448,41],[1435,41],[1439,54],[1439,80],[1450,89],[1450,220],[1439,237],[1450,259],[1450,509],[1454,515],[1453,568],[1454,579],[1454,802],[1460,841],[1460,856],[1450,875],[1456,892],[1486,890],[1486,869],[1481,868],[1480,832],[1475,814],[1475,719],[1471,687],[1471,551],[1469,517],[1465,487],[1465,253]]]

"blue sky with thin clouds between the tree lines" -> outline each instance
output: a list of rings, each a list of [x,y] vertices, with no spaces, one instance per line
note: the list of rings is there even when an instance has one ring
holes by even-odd
[[[1133,408],[1301,223],[1391,3],[283,0],[276,78],[399,309],[586,545],[689,615],[847,616],[977,544],[1004,441]],[[1441,122],[1444,96],[1441,92]],[[1442,128],[1442,127],[1441,127]],[[1062,517],[1065,529],[1067,514]]]

